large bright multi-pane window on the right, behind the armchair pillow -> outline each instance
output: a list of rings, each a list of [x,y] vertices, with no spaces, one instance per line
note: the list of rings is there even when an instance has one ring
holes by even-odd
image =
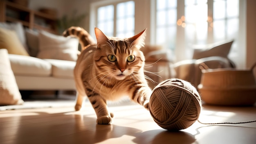
[[[171,49],[173,57],[178,61],[192,57],[192,45],[238,39],[239,0],[155,0],[155,2],[155,44]],[[184,44],[180,44],[182,42]],[[231,59],[233,57],[232,60],[238,63],[235,58],[238,57],[236,40],[232,44],[229,57]]]

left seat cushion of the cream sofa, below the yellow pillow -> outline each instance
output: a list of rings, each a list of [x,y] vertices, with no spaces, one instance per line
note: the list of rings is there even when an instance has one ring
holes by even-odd
[[[24,76],[50,76],[52,65],[48,61],[36,57],[9,54],[14,74]]]

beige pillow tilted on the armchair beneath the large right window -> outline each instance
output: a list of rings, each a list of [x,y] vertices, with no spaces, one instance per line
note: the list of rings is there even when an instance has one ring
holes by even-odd
[[[231,48],[231,45],[233,43],[232,41],[226,41],[222,42],[222,44],[216,43],[216,44],[208,44],[207,46],[204,46],[203,48],[195,48],[193,59],[201,59],[204,57],[213,57],[213,56],[220,56],[225,57],[229,55],[229,50]]]

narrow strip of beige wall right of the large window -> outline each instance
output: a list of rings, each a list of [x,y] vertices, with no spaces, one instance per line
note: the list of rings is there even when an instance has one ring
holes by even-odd
[[[247,33],[247,59],[246,66],[251,68],[256,63],[256,0],[247,0],[247,17],[246,17],[246,33]],[[256,77],[256,68],[254,68],[254,76]]]

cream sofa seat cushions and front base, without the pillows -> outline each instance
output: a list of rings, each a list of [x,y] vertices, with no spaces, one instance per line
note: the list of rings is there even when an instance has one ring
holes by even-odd
[[[9,60],[20,90],[75,90],[75,61],[12,54]]]

